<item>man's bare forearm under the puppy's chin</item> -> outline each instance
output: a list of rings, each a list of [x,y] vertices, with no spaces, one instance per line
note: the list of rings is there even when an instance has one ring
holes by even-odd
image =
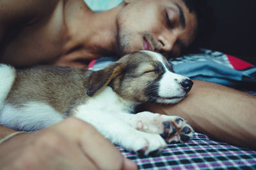
[[[194,81],[188,97],[174,106],[148,104],[147,110],[178,115],[195,129],[232,145],[256,150],[256,97],[205,81]]]

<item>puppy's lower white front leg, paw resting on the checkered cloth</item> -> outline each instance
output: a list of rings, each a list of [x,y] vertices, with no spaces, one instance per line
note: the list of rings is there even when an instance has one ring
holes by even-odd
[[[92,124],[112,143],[123,146],[127,150],[148,155],[152,152],[158,153],[166,146],[159,134],[137,131],[112,113],[102,113],[100,110],[88,111],[80,107],[74,115]]]

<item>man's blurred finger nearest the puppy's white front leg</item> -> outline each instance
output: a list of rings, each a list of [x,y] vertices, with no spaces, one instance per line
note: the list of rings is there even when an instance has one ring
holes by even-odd
[[[63,132],[83,150],[86,157],[99,169],[122,169],[136,164],[127,160],[120,151],[104,138],[92,125],[77,118],[67,118],[61,124],[54,125],[54,129]]]

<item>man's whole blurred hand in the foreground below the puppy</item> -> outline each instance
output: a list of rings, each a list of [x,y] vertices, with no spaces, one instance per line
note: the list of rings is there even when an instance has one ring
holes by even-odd
[[[137,169],[92,125],[77,118],[0,145],[3,169]]]

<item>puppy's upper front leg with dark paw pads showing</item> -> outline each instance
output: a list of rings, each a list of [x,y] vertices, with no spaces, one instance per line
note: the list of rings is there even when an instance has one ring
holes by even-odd
[[[185,142],[193,136],[193,129],[183,118],[143,111],[137,114],[116,114],[134,129],[160,134],[166,143]]]

